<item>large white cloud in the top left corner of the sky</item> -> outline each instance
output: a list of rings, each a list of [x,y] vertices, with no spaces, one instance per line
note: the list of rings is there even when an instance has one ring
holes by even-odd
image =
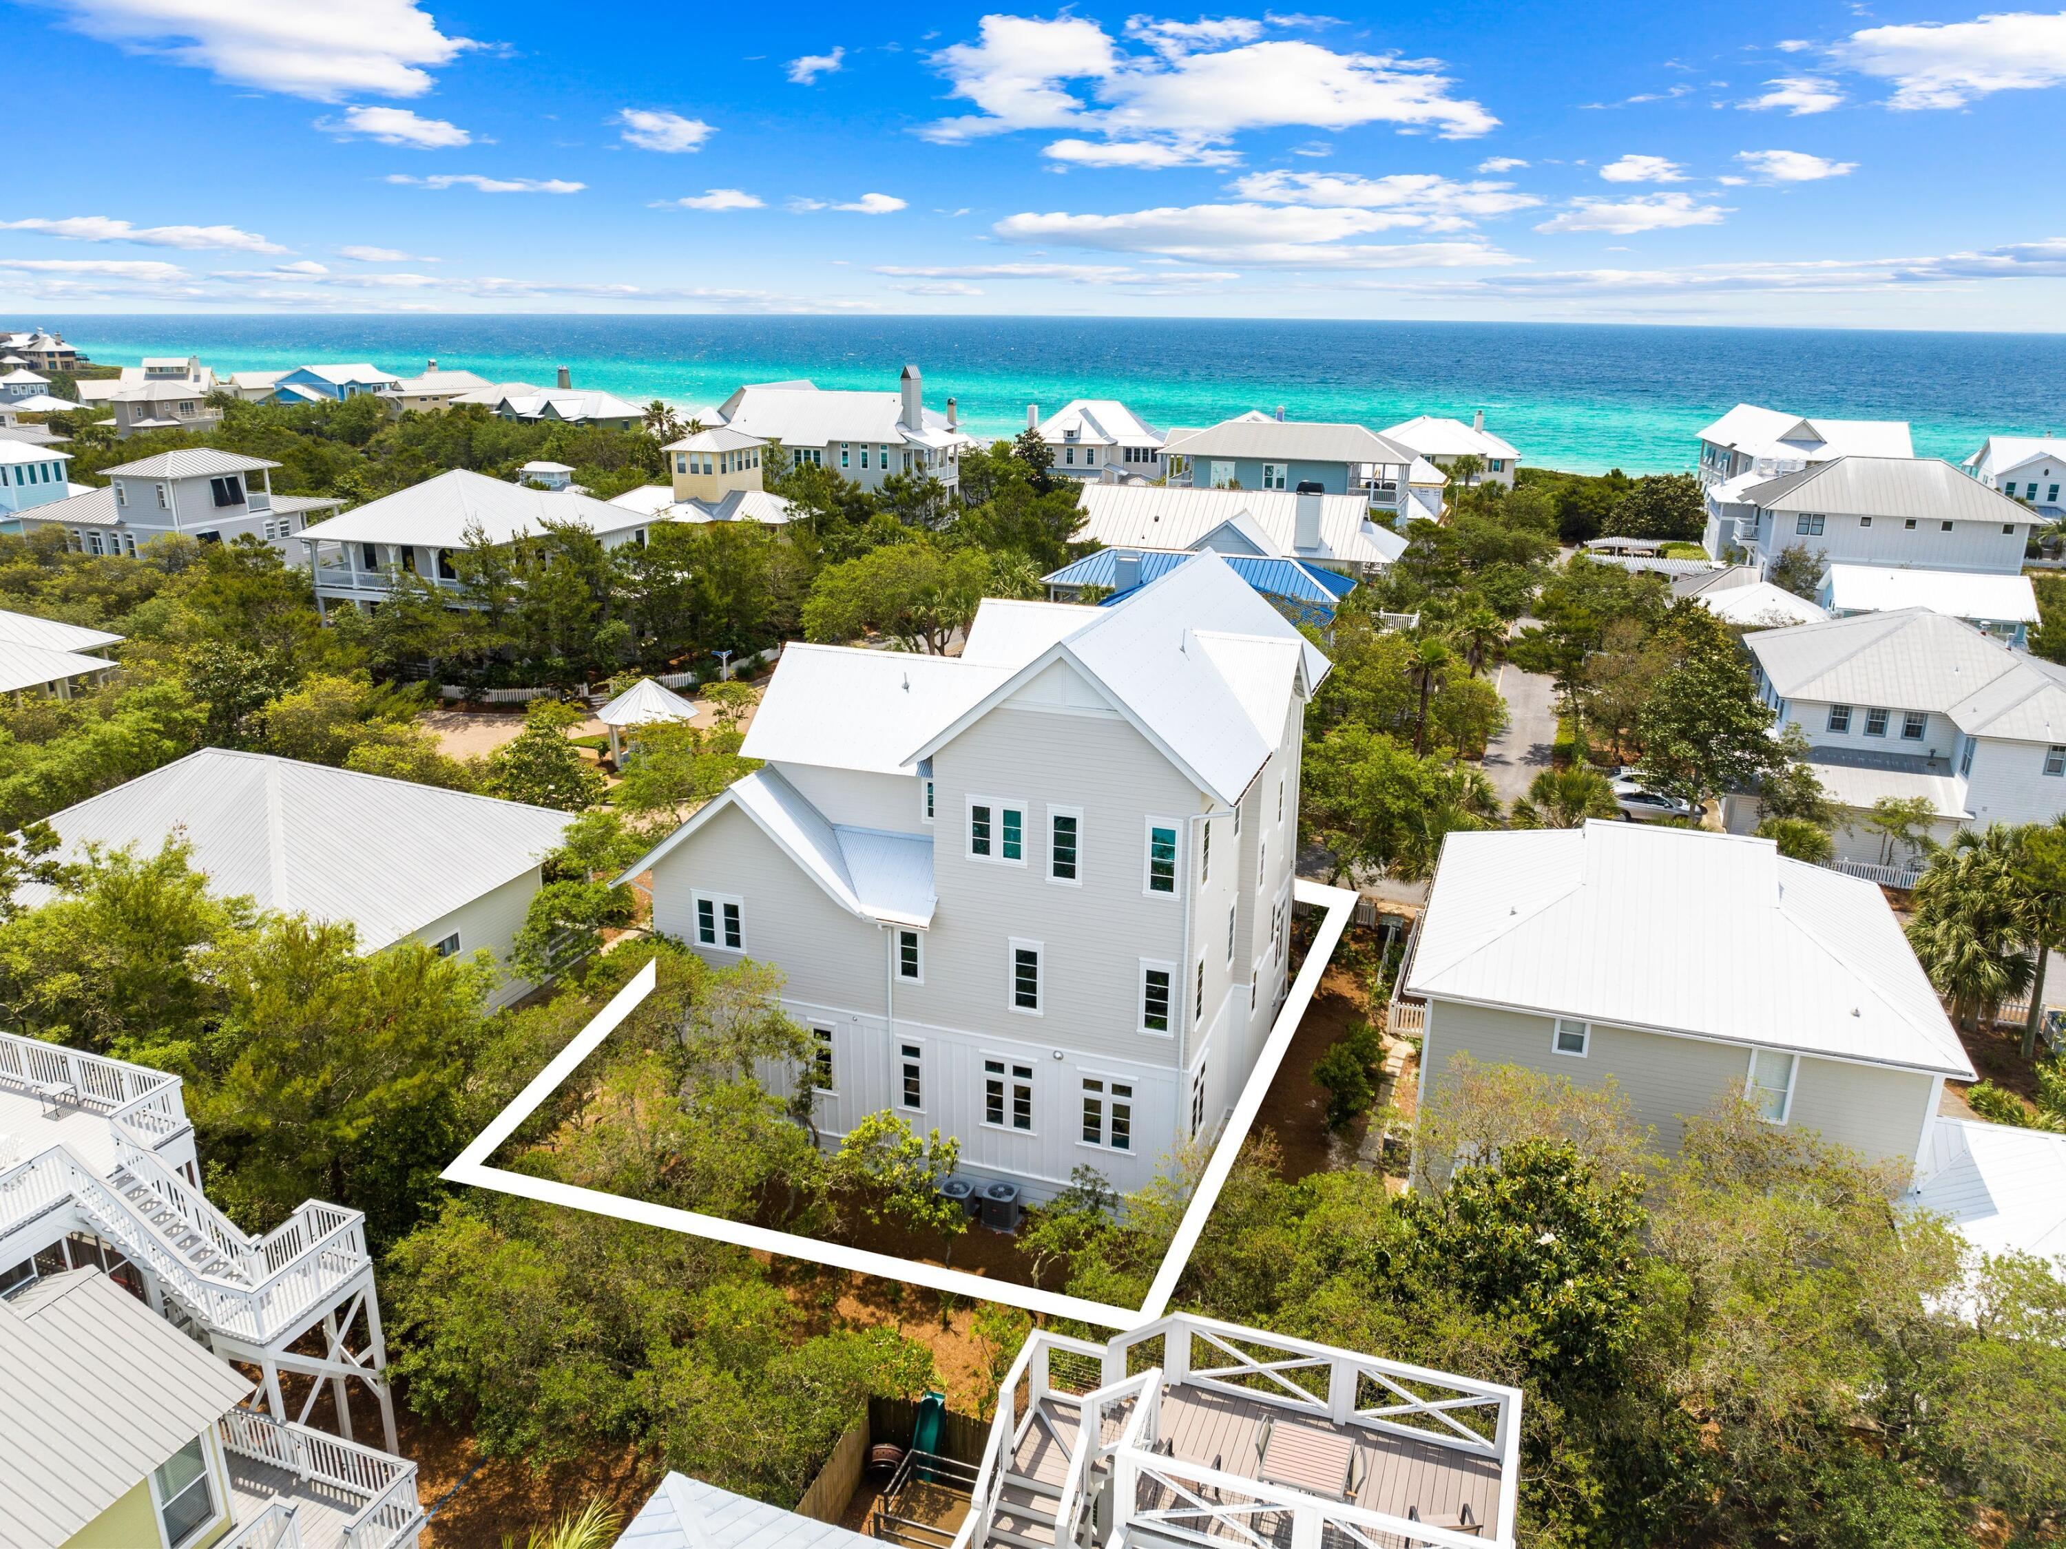
[[[289,97],[421,97],[430,70],[467,37],[446,37],[415,0],[27,0],[132,54],[211,70]]]

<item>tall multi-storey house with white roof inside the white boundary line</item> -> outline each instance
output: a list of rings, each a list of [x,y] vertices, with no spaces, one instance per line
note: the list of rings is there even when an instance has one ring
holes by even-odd
[[[961,657],[791,644],[766,766],[626,876],[657,931],[783,971],[820,1132],[890,1109],[1029,1200],[1138,1188],[1285,993],[1324,673],[1209,554],[1112,607],[985,601]]]

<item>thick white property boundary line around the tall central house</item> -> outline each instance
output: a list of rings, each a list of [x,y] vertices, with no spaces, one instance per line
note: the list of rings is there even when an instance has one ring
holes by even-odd
[[[574,1074],[583,1060],[595,1053],[603,1039],[618,1031],[618,1024],[630,1016],[638,1002],[653,993],[653,985],[659,977],[653,962],[647,962],[638,973],[634,973],[630,981],[609,998],[609,1004],[597,1012],[595,1020],[589,1022],[572,1043],[560,1049],[560,1053],[556,1053],[552,1062],[531,1078],[531,1084],[516,1095],[516,1101],[502,1109],[488,1124],[488,1128],[473,1138],[473,1144],[459,1152],[452,1165],[444,1169],[444,1179],[448,1183],[473,1183],[475,1188],[496,1190],[498,1194],[512,1194],[525,1200],[564,1204],[574,1210],[616,1216],[618,1221],[636,1221],[645,1227],[682,1231],[692,1237],[711,1237],[721,1243],[733,1243],[762,1254],[785,1254],[787,1258],[800,1258],[808,1264],[826,1264],[831,1268],[853,1270],[857,1274],[874,1274],[884,1281],[924,1285],[930,1291],[948,1291],[957,1297],[1004,1301],[1027,1311],[1047,1314],[1050,1318],[1074,1318],[1099,1328],[1124,1330],[1151,1324],[1161,1318],[1163,1307],[1169,1303],[1169,1295],[1176,1291],[1178,1278],[1184,1274],[1184,1264],[1198,1245],[1198,1233],[1204,1231],[1204,1221],[1213,1214],[1213,1202],[1219,1198],[1219,1190],[1225,1188],[1227,1175],[1233,1171],[1233,1161],[1242,1150],[1242,1140],[1248,1138],[1248,1126],[1256,1121],[1262,1097],[1269,1093],[1271,1080],[1275,1080],[1285,1051],[1291,1047],[1291,1037],[1297,1033],[1297,1024],[1306,1016],[1306,1006],[1320,987],[1320,975],[1326,971],[1326,960],[1333,956],[1335,944],[1341,940],[1341,931],[1349,925],[1349,913],[1355,909],[1353,892],[1347,888],[1326,888],[1318,882],[1295,882],[1291,896],[1297,903],[1322,905],[1326,909],[1326,917],[1320,921],[1312,950],[1306,952],[1306,962],[1300,967],[1297,979],[1293,979],[1291,991],[1285,995],[1285,1004],[1279,1008],[1277,1020],[1271,1024],[1271,1037],[1264,1041],[1262,1053],[1256,1055],[1256,1068],[1242,1086],[1242,1097],[1233,1105],[1233,1117],[1227,1119],[1227,1128],[1221,1132],[1211,1161],[1207,1161],[1198,1188],[1192,1194],[1190,1208],[1184,1210],[1184,1221],[1176,1229],[1176,1239],[1169,1243],[1169,1252],[1163,1258],[1161,1268],[1155,1272],[1155,1283],[1149,1287],[1149,1299],[1140,1307],[1114,1307],[1105,1301],[1087,1301],[1085,1297],[1070,1297],[1060,1291],[1041,1291],[1012,1281],[992,1281],[981,1274],[969,1274],[967,1270],[952,1270],[940,1264],[876,1254],[868,1247],[824,1243],[816,1237],[800,1237],[791,1231],[771,1231],[769,1227],[754,1227],[744,1221],[707,1216],[696,1210],[678,1210],[669,1204],[632,1200],[622,1194],[605,1194],[603,1190],[587,1190],[574,1183],[558,1183],[547,1177],[512,1173],[504,1167],[490,1167],[488,1159],[496,1155],[502,1142],[506,1142],[516,1128],[529,1119],[531,1113],[535,1113],[568,1076]]]

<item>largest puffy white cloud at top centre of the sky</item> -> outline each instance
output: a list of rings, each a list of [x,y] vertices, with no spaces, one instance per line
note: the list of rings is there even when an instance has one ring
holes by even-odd
[[[1153,52],[1130,54],[1083,17],[983,17],[979,39],[932,56],[952,95],[979,109],[919,130],[969,140],[1025,128],[1097,132],[1118,143],[1223,147],[1244,130],[1397,124],[1446,138],[1498,124],[1436,60],[1337,54],[1302,39],[1262,39],[1242,19],[1167,23],[1134,19],[1128,35]],[[1122,165],[1140,165],[1128,161]],[[1178,165],[1178,163],[1167,163]]]

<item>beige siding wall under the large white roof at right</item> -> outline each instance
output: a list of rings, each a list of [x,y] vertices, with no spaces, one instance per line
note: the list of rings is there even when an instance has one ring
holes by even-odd
[[[1483,1066],[1523,1066],[1547,1076],[1568,1076],[1599,1086],[1609,1076],[1638,1124],[1655,1130],[1663,1150],[1678,1150],[1684,1117],[1698,1117],[1725,1101],[1750,1072],[1750,1047],[1704,1039],[1593,1024],[1583,1057],[1554,1053],[1556,1018],[1535,1012],[1428,1002],[1428,1041],[1421,1047],[1421,1090],[1440,1084],[1454,1055]],[[1923,1126],[1936,1105],[1936,1080],[1917,1070],[1859,1066],[1802,1055],[1793,1078],[1787,1126],[1812,1130],[1874,1161],[1913,1163]]]

